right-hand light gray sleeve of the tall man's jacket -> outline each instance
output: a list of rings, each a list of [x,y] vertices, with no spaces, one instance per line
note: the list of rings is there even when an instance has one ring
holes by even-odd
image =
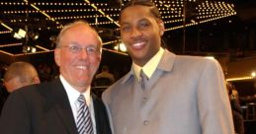
[[[217,61],[206,60],[199,81],[198,105],[203,134],[234,134],[230,102]]]

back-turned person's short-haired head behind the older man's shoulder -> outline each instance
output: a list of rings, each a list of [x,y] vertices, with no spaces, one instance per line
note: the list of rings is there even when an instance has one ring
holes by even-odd
[[[9,93],[33,84],[40,84],[40,77],[31,63],[14,62],[4,74],[4,86]]]

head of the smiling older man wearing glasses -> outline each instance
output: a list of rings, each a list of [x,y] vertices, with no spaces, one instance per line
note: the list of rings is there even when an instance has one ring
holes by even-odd
[[[80,92],[91,85],[101,61],[101,52],[95,53],[94,49],[100,47],[95,31],[86,25],[77,25],[63,33],[60,47],[54,51],[60,74]]]

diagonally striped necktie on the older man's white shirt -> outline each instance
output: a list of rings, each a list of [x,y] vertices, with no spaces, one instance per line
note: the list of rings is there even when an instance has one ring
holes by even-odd
[[[89,108],[83,95],[77,99],[79,103],[76,127],[79,134],[93,134],[93,125]]]

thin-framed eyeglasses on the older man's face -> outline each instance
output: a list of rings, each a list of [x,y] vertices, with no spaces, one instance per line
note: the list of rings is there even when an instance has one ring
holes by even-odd
[[[58,48],[60,47],[67,47],[68,50],[72,53],[80,53],[82,51],[82,49],[85,49],[87,54],[91,54],[91,55],[96,55],[99,54],[101,49],[95,46],[86,46],[86,47],[82,47],[80,45],[64,45],[64,46],[58,46]]]

